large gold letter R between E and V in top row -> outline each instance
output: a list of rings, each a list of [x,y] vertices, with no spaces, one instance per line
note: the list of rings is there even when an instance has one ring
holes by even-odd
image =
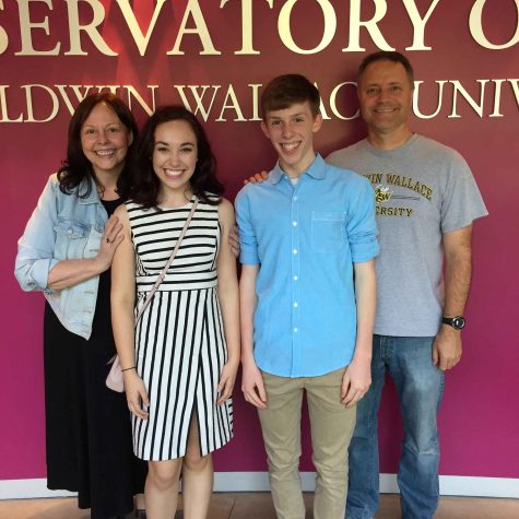
[[[97,27],[105,20],[105,8],[99,0],[64,0],[69,10],[69,36],[70,36],[70,50],[64,52],[66,56],[87,56],[81,48],[81,32],[89,35],[91,42],[95,45],[97,50],[105,56],[119,56],[111,50],[103,36],[97,31]],[[78,5],[80,2],[87,3],[92,8],[93,19],[92,22],[82,25],[80,24],[80,13]]]

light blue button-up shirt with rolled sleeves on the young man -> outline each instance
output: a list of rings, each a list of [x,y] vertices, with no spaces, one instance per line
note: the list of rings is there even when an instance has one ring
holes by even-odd
[[[378,253],[375,199],[359,175],[317,155],[294,187],[279,164],[236,197],[244,264],[256,282],[255,359],[281,377],[350,364],[355,349],[353,263]]]

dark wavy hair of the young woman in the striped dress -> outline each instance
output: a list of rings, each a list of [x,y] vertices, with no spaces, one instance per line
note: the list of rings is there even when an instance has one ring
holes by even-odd
[[[153,169],[153,149],[155,146],[155,131],[165,122],[186,121],[197,138],[197,165],[189,180],[191,191],[200,201],[216,205],[224,192],[223,184],[216,178],[216,158],[211,151],[208,135],[200,121],[181,105],[162,106],[150,117],[142,129],[132,161],[132,186],[130,198],[144,208],[156,208],[161,191],[161,181]],[[215,194],[210,199],[210,194]]]

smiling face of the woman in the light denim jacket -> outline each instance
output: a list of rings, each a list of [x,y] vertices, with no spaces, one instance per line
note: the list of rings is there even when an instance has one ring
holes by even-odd
[[[94,106],[81,127],[81,148],[97,178],[118,176],[133,135],[106,104]]]

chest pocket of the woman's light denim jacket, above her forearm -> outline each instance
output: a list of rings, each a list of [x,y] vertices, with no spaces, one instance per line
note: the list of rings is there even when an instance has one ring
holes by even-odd
[[[59,221],[55,227],[55,258],[59,260],[94,258],[99,251],[102,229],[82,222]]]

